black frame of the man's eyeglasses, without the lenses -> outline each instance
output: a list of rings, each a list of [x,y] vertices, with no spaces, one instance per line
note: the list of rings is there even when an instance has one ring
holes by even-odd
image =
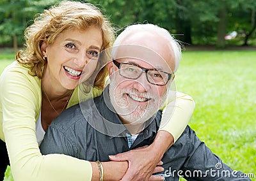
[[[140,73],[140,75],[138,75],[137,78],[130,78],[130,77],[121,75],[121,76],[123,76],[123,77],[125,77],[125,78],[129,78],[129,79],[132,79],[132,80],[138,79],[138,78],[142,75],[142,73],[144,73],[144,72],[146,73],[146,77],[147,77],[147,80],[148,80],[148,71],[151,71],[151,70],[152,70],[152,71],[159,71],[158,69],[147,69],[147,68],[143,68],[143,67],[141,67],[141,66],[138,66],[138,65],[136,65],[136,64],[131,64],[131,63],[127,63],[127,62],[118,62],[118,61],[116,61],[116,60],[114,60],[114,59],[112,59],[112,61],[113,61],[113,63],[115,64],[115,66],[118,67],[118,69],[119,69],[119,75],[121,75],[121,66],[122,66],[122,64],[129,64],[129,65],[136,66],[136,67],[140,68],[140,69],[141,69],[141,73]],[[168,73],[168,72],[165,72],[165,71],[159,71],[159,72],[163,72],[163,73],[166,73],[166,74],[168,75],[168,80],[165,82],[165,84],[152,83],[152,82],[150,82],[149,80],[148,80],[148,82],[149,82],[149,83],[152,83],[153,85],[166,85],[166,84],[168,83],[168,81],[169,81],[171,78],[172,78],[172,80],[173,80],[173,78],[175,77],[174,73]]]

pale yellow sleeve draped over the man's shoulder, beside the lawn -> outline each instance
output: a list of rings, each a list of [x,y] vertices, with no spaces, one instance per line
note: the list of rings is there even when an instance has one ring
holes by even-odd
[[[190,96],[176,91],[169,91],[166,102],[159,131],[168,131],[172,134],[175,142],[188,125],[195,102]]]

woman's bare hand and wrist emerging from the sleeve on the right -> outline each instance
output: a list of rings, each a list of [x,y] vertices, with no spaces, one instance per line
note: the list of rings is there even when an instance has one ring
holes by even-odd
[[[111,161],[128,161],[128,170],[122,180],[164,180],[154,176],[159,170],[159,162],[168,148],[173,145],[173,136],[167,131],[159,131],[154,142],[148,147],[142,147],[129,152],[109,156]]]

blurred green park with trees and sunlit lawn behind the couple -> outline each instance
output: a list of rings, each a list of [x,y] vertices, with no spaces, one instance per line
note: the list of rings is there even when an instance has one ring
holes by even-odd
[[[35,14],[58,2],[1,0],[0,74],[24,45],[24,29]],[[189,126],[224,163],[255,179],[256,1],[88,2],[97,4],[119,32],[125,25],[148,22],[184,45],[175,85],[195,100]]]

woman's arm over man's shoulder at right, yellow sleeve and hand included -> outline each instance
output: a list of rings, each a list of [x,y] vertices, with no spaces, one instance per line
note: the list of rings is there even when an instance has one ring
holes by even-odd
[[[142,178],[147,180],[166,150],[184,131],[194,108],[195,103],[190,96],[170,91],[168,104],[164,106],[160,129],[154,142],[147,148],[110,157],[112,161],[129,162],[129,169],[122,180],[141,180]]]

